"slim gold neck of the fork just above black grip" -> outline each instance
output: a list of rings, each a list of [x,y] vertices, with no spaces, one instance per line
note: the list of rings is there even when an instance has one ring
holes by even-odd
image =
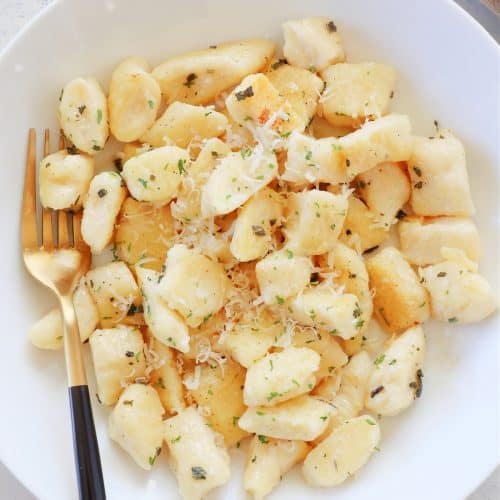
[[[59,297],[64,320],[64,353],[66,355],[66,370],[68,373],[68,386],[87,385],[85,365],[82,356],[80,332],[76,320],[73,300],[70,295]]]

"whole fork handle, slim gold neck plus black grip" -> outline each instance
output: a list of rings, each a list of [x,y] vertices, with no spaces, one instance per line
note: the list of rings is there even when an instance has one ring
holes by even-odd
[[[101,458],[72,294],[60,296],[60,301],[64,318],[64,354],[68,372],[73,448],[80,500],[105,500]]]

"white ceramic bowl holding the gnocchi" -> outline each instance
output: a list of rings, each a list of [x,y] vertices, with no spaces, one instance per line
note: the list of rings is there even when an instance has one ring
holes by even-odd
[[[28,127],[56,128],[61,86],[80,75],[107,85],[110,71],[137,54],[152,64],[173,54],[248,36],[281,37],[290,18],[335,19],[351,61],[399,71],[393,109],[419,134],[433,120],[452,128],[467,150],[482,272],[498,290],[499,51],[449,0],[67,0],[36,18],[0,58],[0,459],[41,499],[76,497],[61,353],[36,351],[27,329],[49,306],[19,255],[18,223]],[[423,397],[382,422],[381,452],[334,490],[307,488],[294,472],[272,498],[442,500],[463,498],[498,463],[498,315],[469,327],[429,324]],[[95,401],[94,401],[95,402]],[[141,471],[106,433],[95,404],[110,499],[177,498],[165,457]],[[210,498],[244,498],[242,453],[232,482]]]

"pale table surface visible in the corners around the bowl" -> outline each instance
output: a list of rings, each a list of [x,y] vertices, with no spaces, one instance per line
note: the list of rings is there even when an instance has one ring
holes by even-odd
[[[0,17],[0,51],[27,21],[50,2],[51,0],[0,0],[2,10]],[[489,9],[478,0],[456,0],[456,2],[472,14],[497,41],[500,41],[500,19]],[[1,463],[0,498],[12,500],[33,500],[34,498]],[[500,468],[494,471],[467,500],[498,499],[500,499]]]

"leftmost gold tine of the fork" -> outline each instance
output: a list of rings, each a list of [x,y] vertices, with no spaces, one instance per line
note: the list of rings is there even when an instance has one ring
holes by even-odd
[[[38,246],[36,224],[36,133],[33,128],[30,129],[28,138],[28,155],[21,211],[21,245],[23,249]]]

